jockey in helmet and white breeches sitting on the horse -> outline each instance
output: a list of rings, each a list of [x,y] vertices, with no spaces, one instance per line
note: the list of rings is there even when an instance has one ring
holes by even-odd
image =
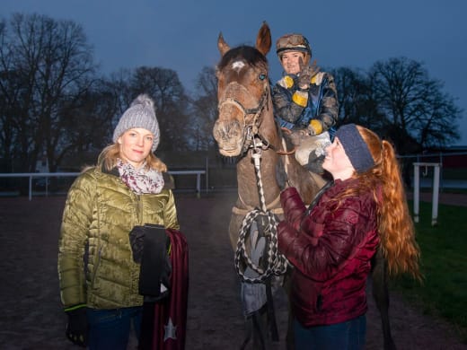
[[[276,52],[284,74],[272,89],[275,118],[280,127],[291,130],[297,161],[322,173],[324,148],[339,114],[334,78],[320,72],[316,61],[310,65],[312,49],[302,34],[280,37]]]

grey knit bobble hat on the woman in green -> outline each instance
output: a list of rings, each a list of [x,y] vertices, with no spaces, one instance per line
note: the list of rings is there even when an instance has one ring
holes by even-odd
[[[152,151],[154,152],[160,141],[159,123],[155,118],[154,101],[146,94],[141,94],[131,102],[119,120],[119,124],[113,131],[112,140],[117,142],[119,136],[134,127],[142,127],[154,134]]]

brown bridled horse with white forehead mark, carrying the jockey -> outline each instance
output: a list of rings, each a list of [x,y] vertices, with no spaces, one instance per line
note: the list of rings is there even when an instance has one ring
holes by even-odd
[[[269,25],[262,23],[254,47],[242,45],[230,48],[221,32],[217,48],[221,59],[216,66],[218,118],[213,127],[213,136],[219,153],[225,157],[236,157],[237,160],[238,196],[229,223],[235,267],[242,282],[269,284],[269,276],[288,273],[284,262],[277,256],[275,225],[283,218],[283,211],[276,169],[285,171],[288,184],[297,188],[307,204],[312,203],[327,181],[321,175],[304,169],[295,160],[295,154],[287,148],[290,143],[286,142],[284,133],[275,121],[266,58],[271,48]],[[266,247],[268,252],[265,256],[277,258],[269,262],[273,267],[260,267],[260,257],[254,246],[258,242],[256,236],[256,241],[245,243],[248,234],[253,237],[252,231],[248,232],[252,223],[257,223],[258,231],[268,238],[266,244],[270,246]],[[387,267],[381,252],[375,255],[372,264],[374,300],[382,315],[384,349],[391,350],[395,346],[389,326]],[[247,274],[249,269],[250,274]],[[287,346],[291,341],[290,331],[289,319]]]

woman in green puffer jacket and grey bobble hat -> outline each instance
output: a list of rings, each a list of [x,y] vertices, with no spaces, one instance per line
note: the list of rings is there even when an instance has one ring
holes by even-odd
[[[139,95],[119,119],[113,144],[70,188],[58,243],[66,336],[90,349],[126,349],[141,325],[140,266],[128,234],[145,223],[178,230],[167,167],[154,156],[160,132],[154,101]],[[154,252],[156,254],[157,252]],[[89,330],[89,331],[88,331]]]

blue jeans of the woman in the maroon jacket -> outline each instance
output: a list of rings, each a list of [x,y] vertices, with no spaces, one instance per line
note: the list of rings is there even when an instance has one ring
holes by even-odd
[[[366,315],[329,326],[304,328],[294,321],[295,348],[319,350],[362,350],[366,340]]]

